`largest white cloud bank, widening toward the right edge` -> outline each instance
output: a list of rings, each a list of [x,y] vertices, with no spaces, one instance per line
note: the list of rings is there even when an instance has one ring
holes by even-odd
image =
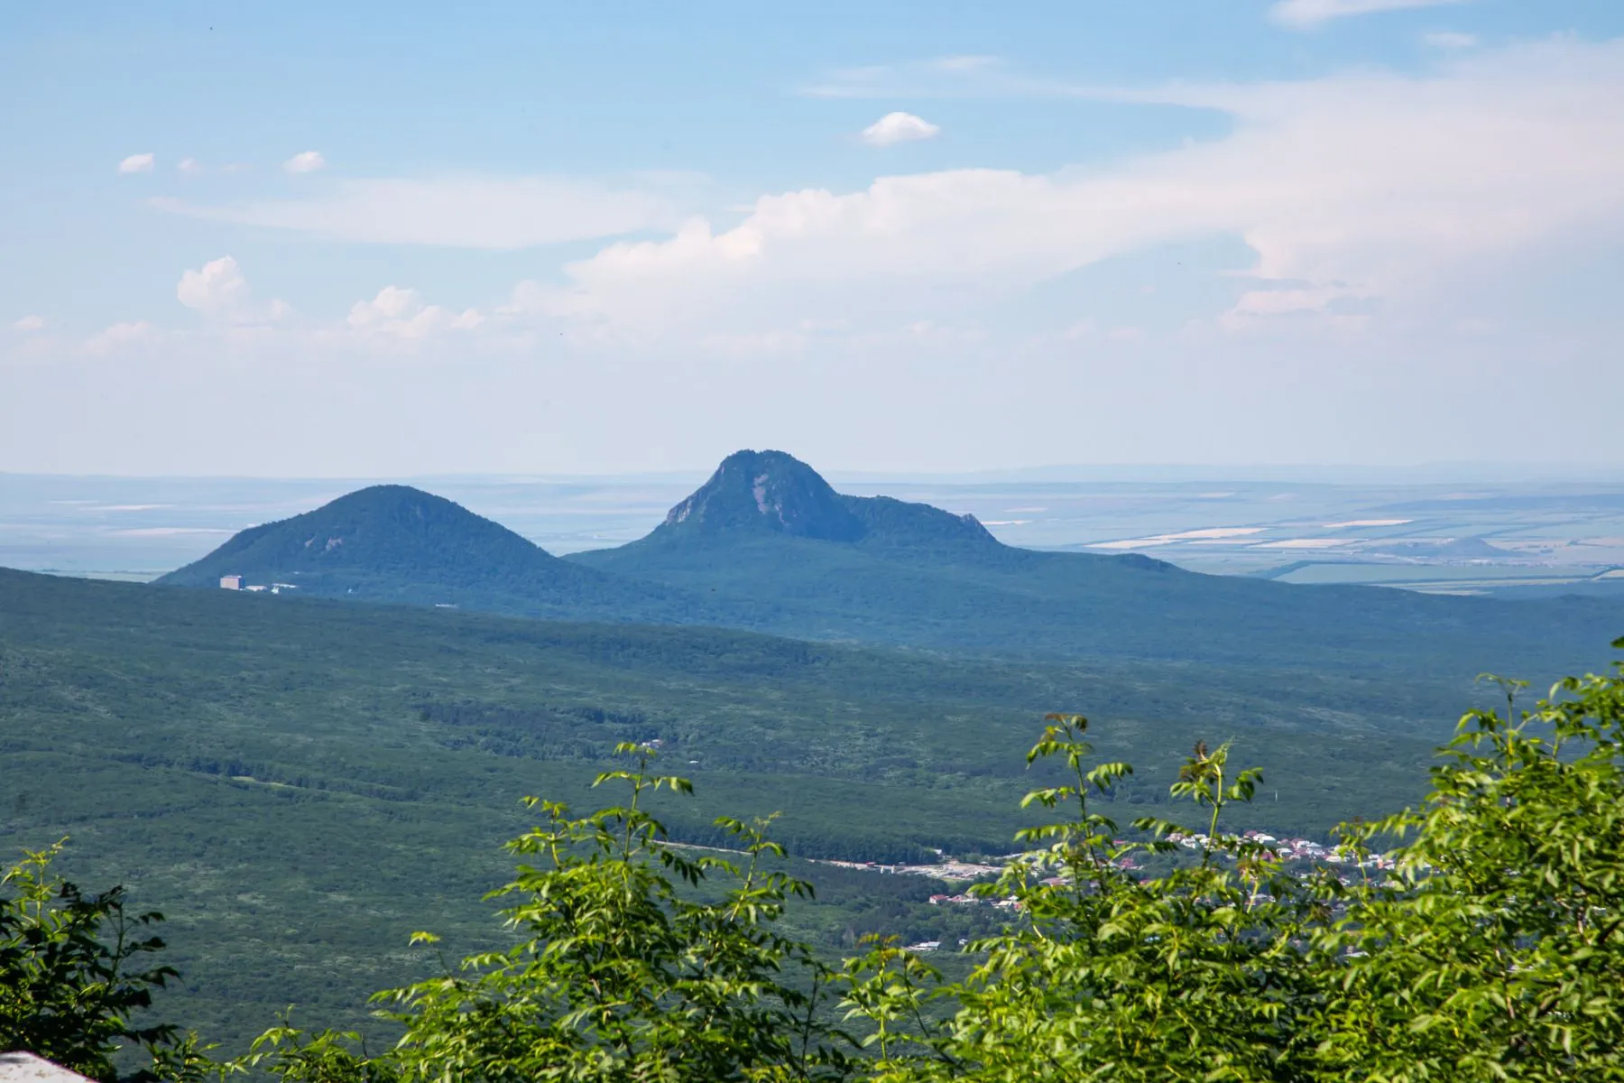
[[[731,229],[692,219],[664,240],[612,244],[513,307],[645,326],[880,318],[1158,244],[1241,237],[1260,291],[1296,283],[1319,292],[1293,310],[1317,310],[1324,291],[1403,297],[1449,268],[1624,232],[1624,39],[1478,52],[1421,75],[1119,97],[1223,110],[1233,130],[1086,170],[957,169],[762,196]],[[1241,313],[1285,300],[1250,297]]]

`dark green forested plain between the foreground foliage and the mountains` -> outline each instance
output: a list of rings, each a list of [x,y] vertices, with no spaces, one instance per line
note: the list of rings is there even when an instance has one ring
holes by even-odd
[[[62,874],[166,911],[188,1026],[235,1047],[296,1002],[378,1036],[365,995],[434,973],[406,935],[500,943],[481,896],[518,799],[586,807],[619,740],[661,740],[695,781],[661,797],[677,841],[783,813],[784,870],[817,896],[781,927],[830,958],[994,927],[929,903],[963,885],[807,859],[1009,852],[1036,822],[1021,794],[1060,778],[1020,755],[1044,711],[1086,710],[1099,753],[1135,763],[1108,802],[1124,823],[1166,813],[1181,749],[1234,739],[1268,784],[1231,823],[1325,841],[1423,796],[1449,719],[1492,703],[1475,672],[981,659],[0,572],[0,846],[70,835]]]

